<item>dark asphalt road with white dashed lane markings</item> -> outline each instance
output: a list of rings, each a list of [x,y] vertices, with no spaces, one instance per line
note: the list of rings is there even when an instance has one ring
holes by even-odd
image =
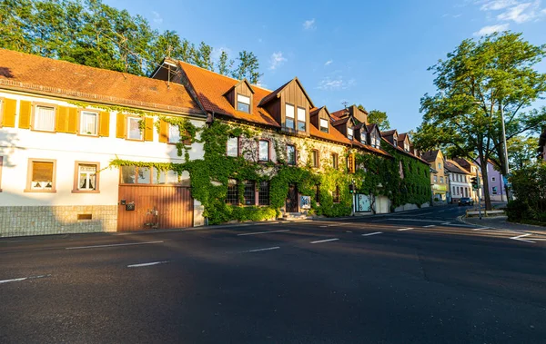
[[[546,343],[546,241],[465,208],[0,241],[0,342]]]

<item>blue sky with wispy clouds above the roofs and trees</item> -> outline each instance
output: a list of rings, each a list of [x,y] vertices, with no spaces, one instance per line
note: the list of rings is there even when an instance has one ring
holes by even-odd
[[[546,44],[540,0],[105,3],[147,17],[159,31],[204,41],[217,55],[252,51],[268,89],[298,76],[316,105],[386,111],[399,133],[420,124],[420,98],[435,90],[427,68],[463,39],[512,30]],[[545,62],[538,68],[546,73]]]

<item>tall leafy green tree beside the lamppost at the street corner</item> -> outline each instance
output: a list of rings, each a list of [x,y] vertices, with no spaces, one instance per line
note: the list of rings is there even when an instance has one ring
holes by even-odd
[[[421,99],[423,123],[414,143],[421,150],[453,146],[462,157],[493,160],[503,171],[501,110],[507,137],[538,130],[546,109],[531,103],[546,91],[546,74],[533,69],[546,55],[545,45],[523,41],[521,34],[490,34],[464,40],[446,60],[429,68],[438,91]],[[487,169],[482,169],[485,203],[490,210]]]

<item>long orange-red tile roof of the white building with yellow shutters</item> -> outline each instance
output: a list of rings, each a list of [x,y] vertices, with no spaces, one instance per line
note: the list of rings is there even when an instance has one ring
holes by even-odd
[[[0,49],[0,87],[173,113],[203,113],[181,84]]]

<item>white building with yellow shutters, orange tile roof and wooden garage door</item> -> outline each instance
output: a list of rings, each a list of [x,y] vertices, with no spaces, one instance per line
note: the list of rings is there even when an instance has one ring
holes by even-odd
[[[187,172],[110,166],[184,161],[169,119],[206,121],[184,86],[3,49],[0,67],[0,237],[202,224]]]

